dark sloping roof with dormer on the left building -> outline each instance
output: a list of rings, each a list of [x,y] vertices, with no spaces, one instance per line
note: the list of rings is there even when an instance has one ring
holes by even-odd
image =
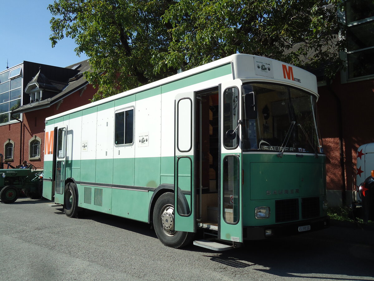
[[[19,108],[14,109],[12,111],[12,114],[34,111],[37,109],[49,107],[88,84],[88,81],[83,76],[83,72],[90,70],[90,64],[88,60],[72,64],[71,66],[65,67],[65,69],[68,69],[68,71],[65,71],[64,79],[58,79],[57,74],[54,75],[55,77],[50,77],[48,79],[43,74],[43,67],[41,67],[37,75],[34,76],[30,83],[28,83],[28,85],[37,82],[40,88],[50,91],[57,91],[59,93],[45,100],[22,105]]]

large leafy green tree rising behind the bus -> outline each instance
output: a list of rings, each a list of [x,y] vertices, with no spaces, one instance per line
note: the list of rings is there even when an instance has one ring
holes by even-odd
[[[330,6],[327,6],[330,4]],[[90,57],[94,99],[111,96],[231,54],[295,64],[341,62],[340,0],[55,0],[49,10],[54,46],[76,40]],[[327,8],[329,7],[329,8]]]

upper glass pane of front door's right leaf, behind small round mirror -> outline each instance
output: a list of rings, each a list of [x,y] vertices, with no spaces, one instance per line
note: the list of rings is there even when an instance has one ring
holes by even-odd
[[[239,90],[235,87],[226,89],[223,94],[223,144],[226,148],[236,148],[238,142],[238,131],[236,138],[229,139],[226,136],[228,130],[235,130],[239,118],[238,106]]]

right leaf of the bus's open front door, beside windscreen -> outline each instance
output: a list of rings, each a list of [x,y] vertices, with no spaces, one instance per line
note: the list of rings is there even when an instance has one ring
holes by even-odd
[[[240,145],[241,81],[221,84],[221,175],[218,237],[243,242],[242,151]]]

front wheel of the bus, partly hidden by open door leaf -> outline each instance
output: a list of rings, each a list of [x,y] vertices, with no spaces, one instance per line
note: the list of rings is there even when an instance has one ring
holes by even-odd
[[[166,192],[156,201],[153,209],[153,227],[162,244],[181,248],[192,242],[193,232],[174,231],[174,193]]]

